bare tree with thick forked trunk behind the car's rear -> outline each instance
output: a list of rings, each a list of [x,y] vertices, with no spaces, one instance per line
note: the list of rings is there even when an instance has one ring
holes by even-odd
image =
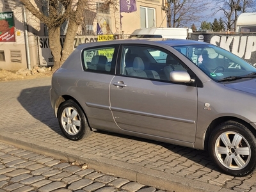
[[[46,24],[49,31],[49,47],[54,58],[52,71],[55,71],[73,51],[74,38],[83,20],[87,0],[20,0],[20,2],[29,12]],[[36,4],[46,6],[48,12],[43,12],[43,9],[38,8]],[[61,47],[60,28],[65,21],[68,21],[68,28],[64,45]]]

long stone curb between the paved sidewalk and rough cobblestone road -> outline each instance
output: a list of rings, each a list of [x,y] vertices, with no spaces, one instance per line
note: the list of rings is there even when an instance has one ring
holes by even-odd
[[[55,159],[63,159],[65,161],[87,164],[89,168],[100,170],[102,173],[115,175],[125,179],[139,182],[147,186],[154,186],[155,188],[166,191],[220,191],[220,186],[205,184],[198,180],[187,179],[179,175],[172,175],[163,173],[150,168],[143,168],[142,166],[125,163],[122,161],[108,159],[106,157],[99,157],[93,154],[83,154],[81,151],[70,151],[65,147],[44,143],[26,138],[20,138],[17,135],[2,132],[0,140],[4,143],[14,145],[15,147],[23,148],[45,156],[51,156]],[[225,189],[225,191],[232,191]]]

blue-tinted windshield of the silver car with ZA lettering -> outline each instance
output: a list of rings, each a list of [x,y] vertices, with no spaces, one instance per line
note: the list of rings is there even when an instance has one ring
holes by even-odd
[[[225,49],[211,44],[173,47],[214,81],[234,81],[255,76],[256,68]]]

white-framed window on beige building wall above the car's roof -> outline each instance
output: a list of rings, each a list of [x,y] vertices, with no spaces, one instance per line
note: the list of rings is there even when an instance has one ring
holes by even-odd
[[[140,7],[140,27],[152,28],[156,27],[156,15],[154,8]]]

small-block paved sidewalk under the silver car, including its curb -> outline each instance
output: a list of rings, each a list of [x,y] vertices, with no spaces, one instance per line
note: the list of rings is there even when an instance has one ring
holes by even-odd
[[[221,173],[207,152],[96,131],[63,136],[49,100],[51,77],[0,83],[0,141],[170,191],[256,191],[256,175]]]

